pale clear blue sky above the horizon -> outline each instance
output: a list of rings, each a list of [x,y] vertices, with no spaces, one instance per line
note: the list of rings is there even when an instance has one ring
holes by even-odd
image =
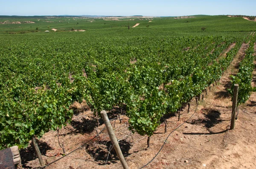
[[[0,15],[256,16],[256,0],[0,0]]]

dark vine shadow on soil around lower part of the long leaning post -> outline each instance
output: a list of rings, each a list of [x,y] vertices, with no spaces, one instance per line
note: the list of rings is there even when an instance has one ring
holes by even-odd
[[[117,157],[116,151],[114,150],[114,148],[112,148],[112,146],[111,152],[108,155],[110,145],[112,145],[111,141],[99,141],[97,146],[95,146],[95,144],[93,143],[88,144],[86,147],[86,151],[92,158],[94,158],[94,161],[96,161],[99,165],[105,165],[107,159],[107,164],[118,163],[119,158]],[[129,141],[120,140],[119,146],[122,150],[124,157],[131,155],[131,153],[129,153],[129,150],[131,149],[131,143]]]

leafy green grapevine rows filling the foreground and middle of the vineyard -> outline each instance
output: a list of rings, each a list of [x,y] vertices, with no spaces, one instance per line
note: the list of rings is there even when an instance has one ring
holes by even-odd
[[[72,36],[70,36],[72,35]],[[231,83],[239,84],[238,104],[251,85],[256,36],[94,37],[80,34],[1,35],[0,149],[23,149],[32,138],[69,125],[90,109],[102,123],[127,118],[132,133],[150,138],[166,117],[177,115],[217,85],[243,43],[244,59]],[[233,86],[230,88],[232,94]],[[74,108],[74,104],[83,107]],[[121,112],[115,110],[121,109]],[[125,113],[122,113],[125,112]],[[121,122],[121,120],[120,120]],[[90,125],[90,124],[88,124]]]

